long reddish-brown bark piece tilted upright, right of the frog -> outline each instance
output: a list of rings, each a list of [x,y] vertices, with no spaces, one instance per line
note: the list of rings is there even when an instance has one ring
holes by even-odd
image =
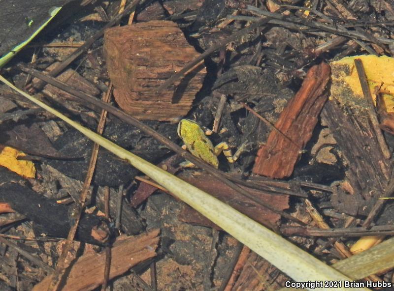
[[[300,150],[312,136],[318,116],[327,101],[330,74],[326,63],[309,69],[301,88],[287,104],[267,143],[260,147],[253,173],[272,178],[292,175]]]

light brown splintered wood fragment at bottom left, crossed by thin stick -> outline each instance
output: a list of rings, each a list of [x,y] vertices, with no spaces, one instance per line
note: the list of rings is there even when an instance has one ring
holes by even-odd
[[[111,249],[109,278],[128,271],[132,266],[156,256],[160,230],[151,230],[138,236],[118,239]],[[89,253],[71,266],[62,291],[93,290],[104,280],[105,252]],[[34,286],[33,291],[47,290],[52,275]]]

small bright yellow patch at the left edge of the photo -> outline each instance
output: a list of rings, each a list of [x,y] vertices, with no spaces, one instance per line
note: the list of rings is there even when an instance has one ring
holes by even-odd
[[[17,160],[19,156],[26,156],[26,154],[15,148],[5,146],[0,152],[0,166],[26,178],[34,178],[34,164],[31,161]]]

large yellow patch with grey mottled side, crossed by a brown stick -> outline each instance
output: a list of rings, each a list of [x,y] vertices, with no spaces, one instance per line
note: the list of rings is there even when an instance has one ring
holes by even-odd
[[[331,97],[355,110],[366,108],[367,103],[354,65],[355,58],[362,61],[372,96],[375,98],[375,88],[380,87],[380,91],[384,92],[382,97],[387,112],[394,113],[394,58],[369,55],[331,62]]]

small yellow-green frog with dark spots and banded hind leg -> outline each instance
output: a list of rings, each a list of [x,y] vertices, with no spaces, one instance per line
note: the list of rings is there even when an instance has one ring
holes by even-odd
[[[183,149],[188,149],[191,154],[200,158],[201,160],[211,164],[216,169],[219,167],[219,160],[217,156],[223,151],[229,163],[235,162],[239,155],[244,151],[245,144],[242,145],[234,155],[231,153],[229,145],[225,142],[213,146],[207,135],[211,135],[211,130],[204,130],[201,126],[193,120],[182,119],[178,123],[178,136],[185,143]],[[189,163],[188,166],[193,164]]]

